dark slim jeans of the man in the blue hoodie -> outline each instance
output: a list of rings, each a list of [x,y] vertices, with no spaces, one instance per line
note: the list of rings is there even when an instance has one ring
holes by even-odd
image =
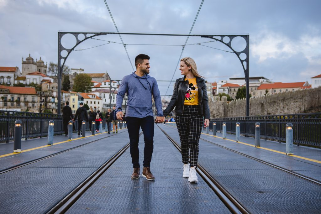
[[[145,141],[144,148],[144,167],[151,166],[153,143],[154,143],[154,118],[147,116],[143,118],[139,117],[126,117],[127,129],[130,141],[130,155],[132,156],[132,163],[134,168],[139,166],[139,128],[142,127]]]

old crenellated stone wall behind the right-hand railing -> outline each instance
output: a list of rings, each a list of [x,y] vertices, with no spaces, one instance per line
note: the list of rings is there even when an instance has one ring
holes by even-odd
[[[209,103],[211,118],[245,116],[245,98]],[[250,98],[250,116],[321,112],[321,87]]]

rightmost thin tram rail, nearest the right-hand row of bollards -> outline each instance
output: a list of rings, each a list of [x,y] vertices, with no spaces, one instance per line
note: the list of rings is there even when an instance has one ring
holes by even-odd
[[[169,128],[172,128],[172,127],[169,127]],[[172,129],[174,129],[174,128],[172,128]],[[176,129],[174,129],[174,130],[176,130]],[[244,154],[244,153],[242,153],[242,152],[239,152],[239,151],[230,149],[230,148],[228,148],[228,147],[222,146],[222,145],[217,144],[217,143],[214,143],[214,142],[212,142],[212,141],[208,141],[208,140],[206,140],[206,139],[204,139],[204,138],[200,138],[200,139],[203,140],[203,141],[206,141],[206,142],[208,142],[208,143],[211,143],[211,144],[213,144],[213,145],[215,145],[215,146],[219,146],[219,147],[221,147],[221,148],[223,148],[223,149],[226,149],[226,150],[235,152],[235,153],[237,153],[237,154],[239,154],[239,155],[245,156],[245,157],[247,157],[247,158],[251,158],[251,159],[256,160],[256,161],[258,161],[258,162],[264,163],[264,164],[266,164],[266,165],[268,165],[268,166],[271,166],[271,167],[274,167],[274,168],[276,168],[276,169],[282,170],[282,171],[284,171],[284,172],[287,172],[287,173],[289,173],[289,174],[291,174],[291,175],[297,176],[297,177],[299,177],[299,178],[302,178],[302,179],[307,180],[307,181],[309,181],[309,182],[312,182],[312,183],[314,183],[314,184],[321,185],[321,181],[316,180],[316,179],[313,179],[313,178],[308,177],[308,176],[306,176],[306,175],[302,175],[302,174],[293,172],[293,171],[291,171],[291,170],[289,170],[289,169],[286,169],[286,168],[284,168],[284,167],[281,167],[281,166],[275,165],[275,164],[273,164],[273,163],[270,163],[270,162],[261,160],[261,159],[259,159],[259,158],[255,158],[255,157],[253,157],[253,156]]]

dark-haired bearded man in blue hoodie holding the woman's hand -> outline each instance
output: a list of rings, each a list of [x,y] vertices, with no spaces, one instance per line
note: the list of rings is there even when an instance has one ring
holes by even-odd
[[[150,164],[153,153],[154,141],[154,114],[152,111],[152,95],[157,109],[156,122],[163,121],[163,111],[160,100],[160,91],[155,78],[148,75],[150,57],[140,54],[135,58],[136,71],[123,78],[116,97],[117,119],[123,120],[122,102],[125,93],[128,101],[126,108],[126,123],[130,141],[130,155],[134,172],[132,179],[139,178],[139,128],[141,127],[144,134],[144,162],[143,177],[147,180],[155,180],[151,173]]]

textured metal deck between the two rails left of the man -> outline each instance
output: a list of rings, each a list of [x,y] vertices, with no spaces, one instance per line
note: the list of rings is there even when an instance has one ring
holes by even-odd
[[[0,213],[47,212],[129,141],[107,139],[1,174]]]

